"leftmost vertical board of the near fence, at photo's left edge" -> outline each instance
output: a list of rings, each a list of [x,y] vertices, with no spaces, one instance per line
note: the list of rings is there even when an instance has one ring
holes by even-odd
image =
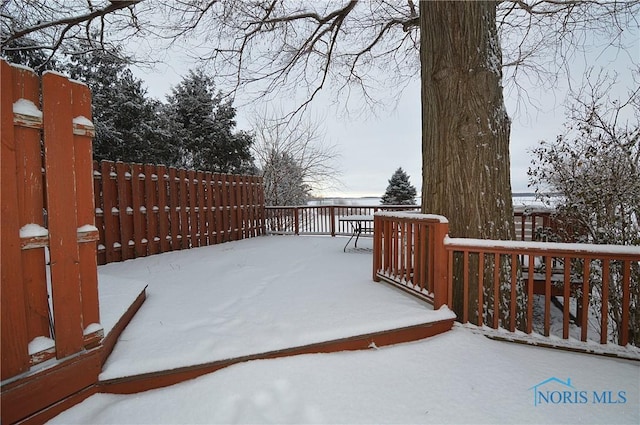
[[[2,72],[1,87],[3,93],[11,93],[13,79],[11,67],[0,61]],[[0,121],[0,140],[2,166],[0,181],[0,211],[2,211],[2,232],[0,232],[0,255],[2,256],[2,379],[10,378],[29,369],[29,351],[27,345],[27,317],[24,309],[25,295],[22,281],[22,258],[20,253],[20,224],[18,211],[17,158],[13,128],[13,103],[11,96],[2,96],[0,106],[3,114]],[[7,265],[10,265],[7,267]]]

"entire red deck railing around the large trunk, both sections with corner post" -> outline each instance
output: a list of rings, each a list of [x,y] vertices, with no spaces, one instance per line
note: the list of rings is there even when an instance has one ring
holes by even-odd
[[[640,247],[449,238],[446,227],[376,214],[374,280],[448,304],[462,323],[640,345]]]

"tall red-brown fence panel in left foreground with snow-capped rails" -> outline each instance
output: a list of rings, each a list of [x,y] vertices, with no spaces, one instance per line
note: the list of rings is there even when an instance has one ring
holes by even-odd
[[[54,72],[0,65],[4,389],[34,364],[97,345],[102,328],[91,92]]]

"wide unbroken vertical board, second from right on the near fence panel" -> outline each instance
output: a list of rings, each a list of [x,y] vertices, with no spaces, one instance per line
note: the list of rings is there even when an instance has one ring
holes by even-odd
[[[77,242],[71,83],[61,75],[42,77],[47,172],[51,290],[56,356],[83,348],[80,255]]]

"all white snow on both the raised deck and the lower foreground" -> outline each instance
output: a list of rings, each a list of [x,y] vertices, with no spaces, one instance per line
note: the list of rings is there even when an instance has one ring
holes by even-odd
[[[103,375],[446,314],[371,282],[371,255],[343,253],[345,241],[273,236],[101,267],[101,279],[149,283]],[[408,344],[256,360],[144,393],[96,394],[51,423],[637,424],[639,406],[639,362],[498,342],[459,326]]]

